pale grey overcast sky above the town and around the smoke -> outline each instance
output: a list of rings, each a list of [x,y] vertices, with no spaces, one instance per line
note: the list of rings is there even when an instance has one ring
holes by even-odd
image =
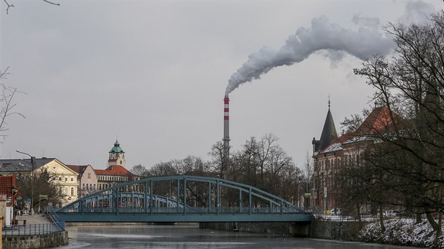
[[[264,46],[280,49],[313,18],[358,30],[365,23],[356,20],[381,27],[444,7],[440,0],[54,2],[61,6],[10,0],[6,15],[1,1],[0,69],[12,73],[2,83],[26,93],[15,98],[26,118],[7,120],[0,156],[22,158],[20,150],[97,169],[116,138],[128,169],[207,159],[223,136],[233,72]],[[272,133],[302,165],[321,135],[328,94],[338,129],[369,106],[372,90],[352,75],[361,63],[318,52],[242,84],[230,94],[232,150]]]

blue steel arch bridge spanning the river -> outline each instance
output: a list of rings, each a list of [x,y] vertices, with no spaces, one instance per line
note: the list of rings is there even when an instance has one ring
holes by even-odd
[[[58,209],[65,222],[295,222],[312,217],[253,186],[213,177],[149,177]]]

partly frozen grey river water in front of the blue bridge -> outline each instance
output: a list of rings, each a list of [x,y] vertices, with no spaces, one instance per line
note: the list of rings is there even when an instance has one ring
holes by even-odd
[[[198,226],[68,226],[69,245],[58,248],[403,248],[393,245],[289,238],[199,229]]]

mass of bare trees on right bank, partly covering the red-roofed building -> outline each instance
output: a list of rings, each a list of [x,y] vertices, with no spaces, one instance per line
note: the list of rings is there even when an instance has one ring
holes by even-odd
[[[426,217],[441,234],[444,212],[444,12],[426,24],[389,23],[394,37],[390,58],[364,61],[356,75],[374,88],[374,101],[390,112],[380,125],[357,134],[366,140],[339,177],[342,203],[360,217],[363,205],[391,207]],[[364,110],[364,115],[368,111]],[[350,132],[362,123],[352,115],[342,124]],[[364,124],[365,125],[365,124]],[[380,127],[381,128],[381,127]]]

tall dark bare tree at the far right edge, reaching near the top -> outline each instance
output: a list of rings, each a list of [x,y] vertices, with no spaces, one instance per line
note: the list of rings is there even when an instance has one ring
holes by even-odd
[[[444,212],[444,11],[430,23],[390,23],[386,31],[395,37],[395,57],[375,56],[354,70],[374,87],[374,99],[387,106],[393,123],[390,131],[371,135],[388,143],[379,152],[394,163],[374,160],[373,166],[396,179],[391,189],[404,195],[398,204],[425,214],[440,234],[435,217],[441,222]]]

